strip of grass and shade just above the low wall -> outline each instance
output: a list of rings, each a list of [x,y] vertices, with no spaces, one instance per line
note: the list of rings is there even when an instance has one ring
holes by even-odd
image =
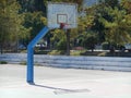
[[[36,50],[35,54],[51,54],[51,56],[66,56],[66,50]],[[70,56],[95,56],[95,57],[131,57],[131,52],[121,51],[88,51],[88,50],[70,50]]]

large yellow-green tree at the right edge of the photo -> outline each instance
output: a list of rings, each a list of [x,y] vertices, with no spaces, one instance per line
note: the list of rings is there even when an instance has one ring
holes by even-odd
[[[107,8],[107,12],[112,16],[112,22],[102,17],[99,21],[105,25],[106,40],[110,44],[123,45],[131,42],[131,17],[124,10],[118,8]]]

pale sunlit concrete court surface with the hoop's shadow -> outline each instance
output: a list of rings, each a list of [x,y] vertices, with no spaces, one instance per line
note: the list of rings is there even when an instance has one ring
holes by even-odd
[[[0,98],[131,98],[131,72],[0,64]]]

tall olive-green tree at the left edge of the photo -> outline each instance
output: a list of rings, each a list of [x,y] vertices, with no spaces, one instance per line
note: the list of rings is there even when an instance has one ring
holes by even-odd
[[[0,2],[0,47],[11,46],[13,42],[17,48],[19,38],[27,35],[22,26],[24,15],[19,14],[20,4],[15,0],[2,0]],[[23,32],[24,30],[24,32]],[[4,45],[4,46],[3,46]]]

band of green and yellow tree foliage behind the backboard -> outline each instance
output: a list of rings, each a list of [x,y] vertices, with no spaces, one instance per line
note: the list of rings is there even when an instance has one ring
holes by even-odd
[[[0,0],[0,48],[19,41],[27,45],[47,25],[47,2],[78,3],[78,28],[70,30],[70,45],[94,49],[95,44],[131,42],[131,1],[99,0],[82,9],[83,0]],[[91,33],[90,33],[91,32]],[[66,33],[52,29],[45,37],[52,49],[66,50]],[[51,42],[50,42],[51,41]],[[103,44],[106,47],[106,44]]]

